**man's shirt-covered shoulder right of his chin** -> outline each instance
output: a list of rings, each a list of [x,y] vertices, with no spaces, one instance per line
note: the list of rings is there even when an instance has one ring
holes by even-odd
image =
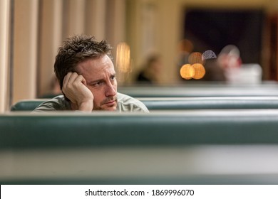
[[[138,99],[118,92],[118,111],[120,112],[149,112],[148,108]]]

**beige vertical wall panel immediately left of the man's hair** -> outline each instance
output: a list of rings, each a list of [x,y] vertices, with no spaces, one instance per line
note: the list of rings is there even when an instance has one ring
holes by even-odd
[[[51,93],[53,65],[62,43],[63,31],[63,0],[41,1],[40,45],[38,60],[38,96]]]

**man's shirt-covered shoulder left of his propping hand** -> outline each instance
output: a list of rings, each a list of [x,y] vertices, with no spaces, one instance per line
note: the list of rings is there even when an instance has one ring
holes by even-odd
[[[66,101],[65,97],[63,95],[58,95],[38,105],[38,107],[36,107],[34,112],[70,110],[70,109],[71,109],[71,105],[69,102]]]

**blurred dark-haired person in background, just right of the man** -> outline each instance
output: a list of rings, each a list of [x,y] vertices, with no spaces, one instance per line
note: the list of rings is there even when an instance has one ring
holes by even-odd
[[[140,70],[136,77],[138,83],[155,84],[158,83],[162,62],[160,55],[149,55],[143,69]]]

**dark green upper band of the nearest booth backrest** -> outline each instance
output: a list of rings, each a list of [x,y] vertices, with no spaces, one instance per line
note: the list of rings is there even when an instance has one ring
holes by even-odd
[[[103,145],[278,144],[278,109],[1,114],[0,149]],[[55,138],[55,139],[54,139]]]

